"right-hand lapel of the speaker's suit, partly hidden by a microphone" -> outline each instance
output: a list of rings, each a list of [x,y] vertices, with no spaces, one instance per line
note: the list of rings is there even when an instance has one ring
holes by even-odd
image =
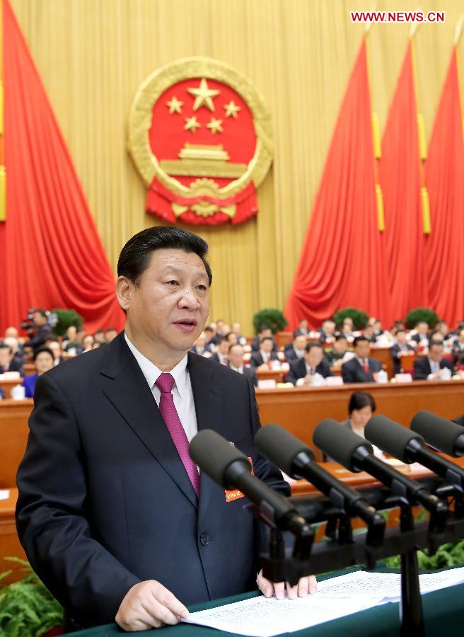
[[[222,435],[222,395],[219,384],[214,379],[214,367],[201,356],[188,355],[188,370],[192,383],[198,431],[213,429]],[[213,481],[200,471],[199,517],[207,510],[211,498]]]

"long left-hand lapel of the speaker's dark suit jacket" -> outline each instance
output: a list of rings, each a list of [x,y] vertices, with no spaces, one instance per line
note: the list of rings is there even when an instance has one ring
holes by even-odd
[[[103,390],[105,395],[182,493],[197,507],[195,489],[144,374],[127,347],[124,333],[107,347],[108,355],[105,357],[101,373],[111,378],[112,383]]]

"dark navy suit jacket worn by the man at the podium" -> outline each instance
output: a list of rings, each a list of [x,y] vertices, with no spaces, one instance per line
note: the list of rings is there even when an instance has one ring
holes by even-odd
[[[198,429],[252,457],[255,475],[289,495],[255,452],[248,379],[189,353]],[[200,476],[199,499],[151,389],[121,333],[42,374],[18,470],[16,524],[30,563],[81,626],[114,621],[134,584],[155,579],[184,604],[255,587],[260,523]]]

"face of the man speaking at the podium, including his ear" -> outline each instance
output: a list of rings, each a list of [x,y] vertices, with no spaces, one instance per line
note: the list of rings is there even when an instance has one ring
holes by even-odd
[[[118,300],[135,339],[156,342],[163,355],[182,354],[190,350],[207,320],[207,272],[195,253],[156,250],[138,287],[119,277]]]

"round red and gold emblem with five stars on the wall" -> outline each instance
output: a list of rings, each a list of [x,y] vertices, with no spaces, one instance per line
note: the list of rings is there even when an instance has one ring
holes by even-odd
[[[257,213],[272,161],[270,119],[252,84],[204,57],[158,69],[137,91],[129,153],[166,222],[239,224]]]

